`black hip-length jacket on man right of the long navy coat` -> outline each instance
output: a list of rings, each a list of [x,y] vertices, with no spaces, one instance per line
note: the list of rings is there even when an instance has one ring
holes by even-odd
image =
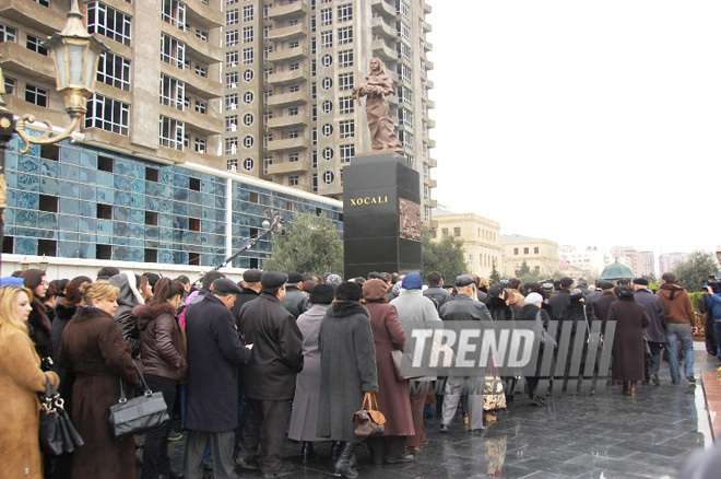
[[[295,318],[273,294],[262,293],[240,308],[240,332],[252,343],[243,369],[246,397],[291,400],[303,371],[303,335]]]

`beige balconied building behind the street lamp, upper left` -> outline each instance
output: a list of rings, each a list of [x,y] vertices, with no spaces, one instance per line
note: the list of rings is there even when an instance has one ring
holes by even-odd
[[[221,0],[80,2],[110,51],[80,131],[84,143],[161,163],[221,168]],[[69,1],[8,0],[0,9],[0,67],[12,112],[64,127],[55,67],[42,42],[62,30]]]

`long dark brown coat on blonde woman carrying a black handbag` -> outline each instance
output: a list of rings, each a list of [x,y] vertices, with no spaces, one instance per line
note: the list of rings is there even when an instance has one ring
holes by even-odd
[[[71,418],[85,441],[74,453],[73,479],[134,478],[134,440],[130,436],[115,441],[108,425],[109,407],[120,398],[120,378],[131,385],[130,389],[140,387],[120,326],[101,309],[79,307],[62,331],[58,360],[75,374]]]

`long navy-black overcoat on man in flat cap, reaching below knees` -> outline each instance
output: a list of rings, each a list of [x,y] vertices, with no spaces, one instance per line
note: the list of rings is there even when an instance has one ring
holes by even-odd
[[[208,293],[186,314],[186,428],[225,432],[238,425],[238,365],[250,359],[233,313]]]

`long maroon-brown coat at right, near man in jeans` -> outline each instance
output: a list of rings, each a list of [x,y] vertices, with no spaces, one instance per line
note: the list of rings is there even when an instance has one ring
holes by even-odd
[[[611,377],[643,381],[643,328],[651,324],[646,308],[635,301],[619,300],[611,304],[607,320],[616,322]]]

